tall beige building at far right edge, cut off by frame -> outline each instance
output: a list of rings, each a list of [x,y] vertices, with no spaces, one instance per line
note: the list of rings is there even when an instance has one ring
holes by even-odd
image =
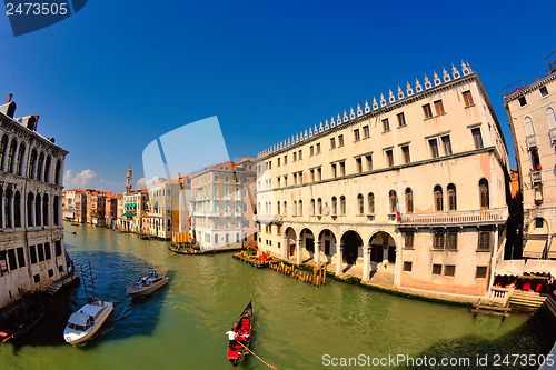
[[[550,63],[550,58],[553,62]],[[505,89],[523,197],[523,257],[556,259],[556,54],[549,73]]]

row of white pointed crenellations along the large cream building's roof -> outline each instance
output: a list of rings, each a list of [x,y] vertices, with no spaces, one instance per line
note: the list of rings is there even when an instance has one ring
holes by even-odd
[[[415,79],[415,86],[411,87],[411,84],[408,81],[406,83],[405,92],[400,88],[400,86],[398,84],[398,89],[397,89],[396,94],[391,91],[391,89],[388,90],[388,100],[385,98],[384,93],[380,93],[379,101],[377,101],[376,97],[373,97],[373,104],[369,104],[369,102],[367,100],[365,100],[364,109],[361,109],[360,103],[357,103],[356,110],[354,110],[354,108],[350,107],[349,114],[347,113],[346,110],[344,110],[344,116],[340,116],[340,113],[338,113],[336,119],[332,116],[330,118],[330,121],[328,121],[328,119],[325,120],[324,126],[322,126],[322,121],[320,121],[320,126],[319,126],[318,130],[317,130],[317,126],[315,124],[315,128],[312,130],[310,128],[309,128],[309,130],[305,130],[305,134],[301,132],[300,134],[296,134],[295,137],[292,136],[291,140],[288,138],[288,140],[284,140],[284,142],[280,142],[280,144],[278,144],[278,146],[272,146],[272,147],[268,148],[267,150],[258,152],[257,159],[266,157],[267,154],[274,153],[278,150],[287,150],[288,147],[290,147],[292,144],[297,144],[297,143],[302,142],[305,140],[309,140],[318,133],[334,129],[335,127],[340,126],[340,124],[346,123],[346,122],[349,122],[351,120],[357,120],[360,117],[369,114],[377,109],[388,109],[388,107],[390,104],[394,104],[397,101],[400,101],[404,99],[409,99],[415,93],[419,93],[419,92],[428,90],[433,87],[437,87],[439,84],[450,82],[453,80],[465,77],[471,72],[473,72],[473,70],[471,70],[469,63],[464,62],[461,60],[461,73],[454,64],[451,64],[451,76],[446,70],[446,68],[443,67],[441,78],[440,78],[440,76],[438,76],[438,73],[436,73],[436,71],[433,71],[433,82],[428,79],[427,74],[425,74],[425,77],[423,79],[424,80],[423,84],[418,79]]]

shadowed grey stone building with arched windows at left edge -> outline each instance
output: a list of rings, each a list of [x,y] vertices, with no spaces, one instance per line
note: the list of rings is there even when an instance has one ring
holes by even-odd
[[[61,213],[68,152],[37,132],[38,116],[0,107],[0,307],[18,290],[44,289],[67,274]]]

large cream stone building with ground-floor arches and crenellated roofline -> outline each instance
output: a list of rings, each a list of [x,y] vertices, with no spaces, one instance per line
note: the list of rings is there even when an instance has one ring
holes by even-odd
[[[488,294],[507,148],[468,64],[302,130],[256,166],[259,249],[398,289]]]

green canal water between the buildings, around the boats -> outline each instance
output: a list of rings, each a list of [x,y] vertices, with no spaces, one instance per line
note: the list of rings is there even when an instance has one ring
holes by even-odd
[[[0,369],[232,369],[225,332],[249,300],[255,312],[252,350],[278,369],[341,368],[327,367],[327,359],[360,354],[470,358],[466,368],[487,369],[474,366],[477,356],[488,356],[492,363],[497,354],[547,353],[552,346],[553,338],[526,314],[505,321],[485,314],[473,318],[466,308],[367,291],[331,279],[316,288],[269,269],[257,270],[229,253],[172,256],[168,242],[64,226],[66,248],[76,266],[88,270],[91,263],[95,284],[86,281],[89,294],[93,291],[115,302],[115,313],[88,346],[64,343],[64,322],[86,300],[81,283],[57,299],[47,322],[22,343],[0,346]],[[153,270],[167,273],[169,284],[132,302],[127,287]],[[355,367],[344,367],[348,368]],[[390,362],[389,368],[396,367]],[[269,368],[248,357],[240,369]]]

